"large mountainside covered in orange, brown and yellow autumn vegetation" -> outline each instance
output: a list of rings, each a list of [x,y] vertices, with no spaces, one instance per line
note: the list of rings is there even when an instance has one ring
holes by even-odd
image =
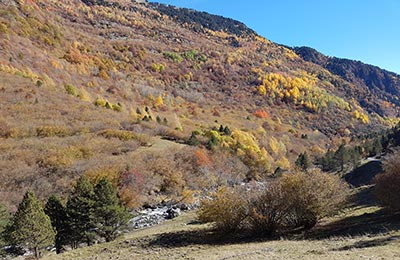
[[[397,116],[397,103],[231,19],[127,0],[0,5],[10,207],[28,188],[65,196],[83,174],[111,176],[131,207],[196,199]],[[184,145],[147,149],[160,137]]]

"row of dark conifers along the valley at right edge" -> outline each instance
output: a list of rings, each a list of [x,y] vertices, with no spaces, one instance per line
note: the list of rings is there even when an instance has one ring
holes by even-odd
[[[381,133],[370,133],[355,140],[354,146],[341,144],[337,150],[328,150],[317,159],[323,171],[343,171],[345,166],[356,167],[362,158],[380,156],[400,146],[400,123]]]

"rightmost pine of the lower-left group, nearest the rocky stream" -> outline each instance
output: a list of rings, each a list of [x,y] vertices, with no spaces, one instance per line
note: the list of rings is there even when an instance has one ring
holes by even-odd
[[[114,240],[129,220],[129,213],[120,205],[117,190],[103,178],[95,186],[96,232],[106,242]]]

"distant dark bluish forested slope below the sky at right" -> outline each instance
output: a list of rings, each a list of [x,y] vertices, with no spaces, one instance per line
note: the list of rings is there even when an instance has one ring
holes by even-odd
[[[388,101],[396,106],[400,105],[400,75],[360,61],[328,57],[310,47],[296,47],[294,51],[304,60],[322,66],[358,88],[369,89],[369,96],[357,98],[361,106],[371,112],[383,116],[386,111],[385,106],[371,107],[374,98]]]

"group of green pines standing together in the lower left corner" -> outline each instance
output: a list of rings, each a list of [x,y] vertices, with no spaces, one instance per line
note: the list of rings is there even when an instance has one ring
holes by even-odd
[[[43,248],[53,246],[61,253],[67,247],[76,249],[82,244],[114,240],[129,217],[116,188],[107,179],[93,184],[81,177],[65,205],[52,195],[43,206],[28,191],[13,216],[0,206],[0,246],[7,245],[8,253],[13,254],[29,249],[35,257],[41,256]]]

